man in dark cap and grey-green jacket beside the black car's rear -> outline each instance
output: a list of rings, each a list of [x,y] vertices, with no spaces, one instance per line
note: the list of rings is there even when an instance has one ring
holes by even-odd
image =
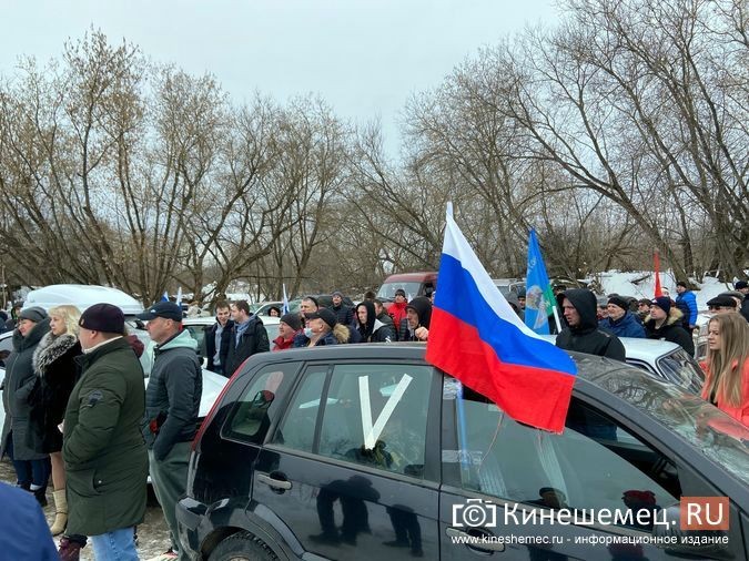
[[[145,327],[155,343],[143,425],[151,484],[169,527],[168,553],[186,559],[180,545],[175,509],[188,484],[190,446],[203,392],[198,341],[182,328],[182,310],[173,302],[159,302],[138,318],[148,322]],[[262,324],[261,328],[264,333]]]

